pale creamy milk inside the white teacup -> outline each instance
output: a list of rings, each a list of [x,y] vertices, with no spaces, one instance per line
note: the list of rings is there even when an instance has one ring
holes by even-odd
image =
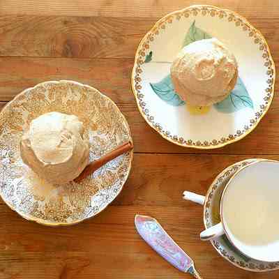
[[[248,246],[279,241],[279,164],[243,169],[223,197],[223,222],[232,239]]]

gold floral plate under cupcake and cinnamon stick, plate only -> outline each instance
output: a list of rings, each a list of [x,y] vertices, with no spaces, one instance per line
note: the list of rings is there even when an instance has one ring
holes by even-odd
[[[75,114],[84,123],[90,161],[132,140],[118,107],[91,86],[43,82],[16,96],[0,113],[0,195],[23,218],[43,225],[73,225],[95,216],[121,192],[133,151],[107,163],[81,183],[52,185],[20,157],[20,140],[32,119],[46,112]]]

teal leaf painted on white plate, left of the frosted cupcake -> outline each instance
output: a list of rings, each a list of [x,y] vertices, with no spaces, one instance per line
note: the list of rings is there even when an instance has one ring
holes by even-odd
[[[157,96],[165,100],[169,105],[179,106],[185,104],[179,95],[175,93],[170,75],[167,75],[167,77],[158,83],[150,83],[150,86]]]

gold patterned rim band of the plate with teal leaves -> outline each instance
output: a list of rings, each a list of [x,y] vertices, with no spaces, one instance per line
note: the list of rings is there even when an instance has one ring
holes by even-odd
[[[219,17],[220,19],[226,18],[228,22],[234,22],[236,27],[241,28],[243,32],[246,32],[247,36],[253,40],[256,45],[259,45],[259,50],[262,51],[262,57],[265,61],[264,66],[266,67],[266,74],[269,75],[269,78],[266,80],[267,86],[266,93],[263,96],[263,103],[260,105],[260,110],[255,112],[255,117],[250,119],[250,123],[246,123],[246,125],[243,126],[241,130],[237,130],[234,135],[230,134],[226,137],[221,137],[220,139],[211,140],[211,142],[201,142],[199,140],[195,142],[194,140],[184,139],[183,137],[179,137],[179,135],[172,135],[169,131],[163,130],[162,125],[156,122],[154,116],[151,114],[151,112],[149,112],[149,109],[146,108],[146,103],[144,103],[144,91],[142,91],[141,85],[142,64],[144,63],[146,51],[149,50],[150,43],[154,40],[154,38],[158,36],[161,30],[167,28],[167,24],[172,24],[174,20],[180,20],[181,17],[189,17],[190,15],[195,17],[200,14],[209,15],[211,17]],[[195,149],[216,149],[241,140],[256,128],[257,124],[262,119],[264,114],[266,114],[267,110],[269,110],[271,105],[274,94],[275,80],[276,68],[271,57],[269,46],[267,45],[262,33],[255,29],[255,27],[252,27],[252,24],[250,24],[250,22],[248,22],[245,17],[242,17],[232,10],[218,8],[216,6],[194,5],[165,15],[165,17],[158,20],[152,29],[146,33],[144,38],[142,38],[135,54],[135,63],[131,77],[131,84],[140,114],[142,114],[142,117],[149,124],[149,126],[156,130],[163,138],[179,146],[193,147]]]

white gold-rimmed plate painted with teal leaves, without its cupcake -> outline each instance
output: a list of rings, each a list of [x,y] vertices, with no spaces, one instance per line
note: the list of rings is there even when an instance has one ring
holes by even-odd
[[[182,47],[204,38],[225,43],[239,63],[234,90],[211,107],[189,107],[174,91],[169,69]],[[132,88],[142,116],[166,140],[214,149],[241,140],[271,105],[275,66],[262,34],[241,15],[197,5],[166,15],[135,54]]]

